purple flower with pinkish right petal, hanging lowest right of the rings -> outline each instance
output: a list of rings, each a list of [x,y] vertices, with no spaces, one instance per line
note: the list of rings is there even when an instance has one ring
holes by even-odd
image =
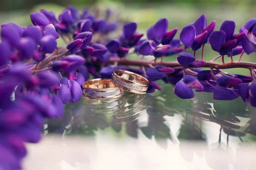
[[[204,90],[203,85],[193,76],[185,75],[175,85],[173,92],[181,99],[192,99],[195,95],[192,89]]]

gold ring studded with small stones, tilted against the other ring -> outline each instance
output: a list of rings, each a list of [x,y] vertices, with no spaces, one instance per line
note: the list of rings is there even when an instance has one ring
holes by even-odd
[[[113,71],[111,82],[119,88],[136,94],[145,94],[148,90],[148,79],[125,70]]]

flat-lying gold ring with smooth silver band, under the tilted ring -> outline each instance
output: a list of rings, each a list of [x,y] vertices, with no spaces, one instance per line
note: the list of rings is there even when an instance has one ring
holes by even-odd
[[[89,99],[116,99],[124,94],[110,79],[92,79],[83,84],[84,97]]]

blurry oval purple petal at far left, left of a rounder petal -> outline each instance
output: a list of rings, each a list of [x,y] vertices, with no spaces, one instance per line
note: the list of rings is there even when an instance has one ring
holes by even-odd
[[[18,47],[18,54],[22,59],[31,59],[36,48],[37,45],[34,39],[29,37],[23,38]]]

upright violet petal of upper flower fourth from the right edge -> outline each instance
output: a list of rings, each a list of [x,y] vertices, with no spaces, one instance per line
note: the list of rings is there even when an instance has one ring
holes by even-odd
[[[163,35],[167,32],[168,29],[168,20],[166,18],[162,18],[155,23],[154,30],[154,38],[161,42]]]

